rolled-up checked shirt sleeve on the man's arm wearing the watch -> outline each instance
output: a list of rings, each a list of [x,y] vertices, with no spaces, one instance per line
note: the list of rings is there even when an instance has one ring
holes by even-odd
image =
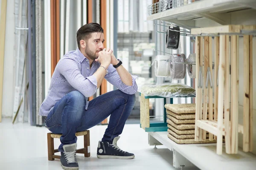
[[[106,74],[105,79],[110,82],[112,85],[116,86],[120,91],[126,94],[135,94],[138,90],[138,86],[136,83],[137,76],[131,75],[132,77],[132,85],[125,85],[122,82],[119,74],[117,73],[116,69],[113,68],[113,65],[108,67],[108,74]]]

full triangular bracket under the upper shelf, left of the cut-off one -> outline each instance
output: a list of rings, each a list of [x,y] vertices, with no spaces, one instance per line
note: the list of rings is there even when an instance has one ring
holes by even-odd
[[[192,13],[195,15],[198,15],[199,17],[204,17],[209,20],[213,20],[216,23],[219,23],[221,25],[229,25],[231,24],[231,14],[230,13],[209,13],[209,12],[202,12],[202,13]]]

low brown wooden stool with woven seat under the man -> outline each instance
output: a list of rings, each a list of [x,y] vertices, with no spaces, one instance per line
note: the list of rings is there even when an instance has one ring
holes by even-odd
[[[62,134],[47,133],[47,144],[48,144],[48,160],[53,161],[55,158],[60,159],[61,156],[55,155],[54,153],[59,152],[58,149],[54,149],[53,138],[60,138]],[[76,153],[83,153],[84,157],[90,157],[90,131],[85,130],[77,132],[76,136],[84,136],[84,148],[76,150]]]

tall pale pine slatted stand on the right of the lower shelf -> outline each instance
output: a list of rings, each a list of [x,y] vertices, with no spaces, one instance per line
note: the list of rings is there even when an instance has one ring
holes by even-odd
[[[226,153],[238,153],[238,133],[243,133],[244,152],[253,150],[253,36],[250,34],[255,34],[255,31],[256,26],[242,25],[193,28],[191,30],[191,33],[196,36],[195,82],[197,95],[195,115],[195,141],[205,141],[206,132],[208,131],[211,134],[209,135],[209,140],[217,139],[217,154],[222,154],[223,136],[225,136]],[[209,75],[212,75],[212,35],[215,36],[215,77],[213,78],[211,76],[212,80],[215,79],[215,83],[212,85],[214,87],[210,86],[209,79]],[[238,54],[239,36],[241,35],[244,38],[243,125],[238,124]],[[230,93],[230,87],[232,93]],[[212,88],[215,89],[214,120],[206,120],[207,108],[203,108],[202,103],[204,103],[204,106],[207,106],[206,104],[209,103],[209,107],[213,107]],[[212,113],[209,113],[209,116],[210,115],[212,115]],[[212,135],[215,136],[213,137]]]

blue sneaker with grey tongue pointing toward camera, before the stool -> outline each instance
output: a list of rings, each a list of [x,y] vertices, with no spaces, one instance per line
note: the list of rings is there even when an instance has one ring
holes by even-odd
[[[76,143],[63,145],[64,152],[61,152],[61,166],[64,170],[78,170],[76,161]]]

